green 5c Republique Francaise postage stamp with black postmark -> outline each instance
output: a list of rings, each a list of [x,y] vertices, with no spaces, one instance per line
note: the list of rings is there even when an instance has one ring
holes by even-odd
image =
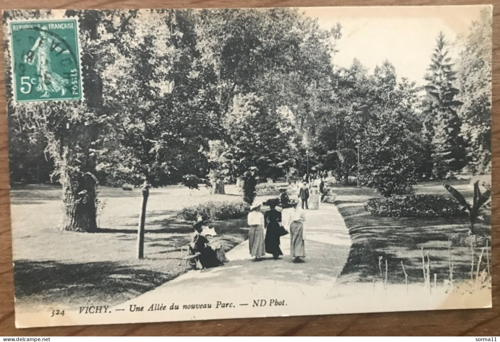
[[[8,22],[15,101],[81,100],[78,20]]]

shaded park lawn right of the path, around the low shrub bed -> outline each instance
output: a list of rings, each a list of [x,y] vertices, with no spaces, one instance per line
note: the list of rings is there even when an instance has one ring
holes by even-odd
[[[472,196],[473,190],[465,182],[454,181],[450,184],[467,197]],[[439,182],[421,183],[415,189],[417,193],[451,197]],[[337,194],[335,204],[345,221],[352,242],[347,262],[341,272],[341,281],[381,282],[379,257],[382,257],[383,277],[387,260],[387,283],[404,283],[401,261],[408,275],[408,282],[423,283],[422,248],[425,261],[427,253],[430,258],[432,281],[434,273],[437,283],[448,280],[449,253],[453,261],[453,280],[470,279],[471,248],[456,243],[448,248],[448,238],[467,233],[467,218],[375,217],[363,208],[366,200],[379,196],[373,189],[344,187],[332,188],[331,191]],[[490,211],[485,213],[484,222],[474,227],[479,234],[490,238]],[[480,246],[474,249],[474,277],[480,252]],[[485,254],[481,270],[486,268]]]

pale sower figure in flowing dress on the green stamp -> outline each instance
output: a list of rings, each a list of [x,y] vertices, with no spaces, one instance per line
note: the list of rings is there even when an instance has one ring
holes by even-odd
[[[36,39],[33,47],[26,53],[25,62],[30,65],[36,63],[36,71],[38,74],[38,85],[35,90],[43,92],[40,97],[49,97],[49,92],[61,92],[64,96],[69,80],[56,74],[52,71],[50,60],[50,52],[53,50],[56,53],[69,53],[68,50],[63,50],[58,39],[47,33],[47,27],[43,26],[40,29],[40,37]]]

